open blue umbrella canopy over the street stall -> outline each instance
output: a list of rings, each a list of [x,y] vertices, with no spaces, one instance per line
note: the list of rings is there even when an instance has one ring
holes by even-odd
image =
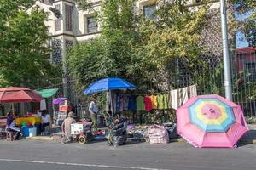
[[[127,82],[121,78],[104,78],[102,80],[90,84],[89,88],[86,88],[84,90],[84,94],[96,94],[99,92],[121,89],[134,90],[135,88],[136,86],[131,84],[131,82]]]

